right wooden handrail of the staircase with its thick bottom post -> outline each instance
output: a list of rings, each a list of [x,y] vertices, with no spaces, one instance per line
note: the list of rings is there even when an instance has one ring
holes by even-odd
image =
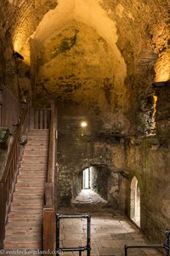
[[[48,173],[45,183],[45,204],[43,208],[43,251],[53,254],[55,237],[55,211],[54,211],[54,172],[56,152],[56,109],[51,103],[51,122],[48,149]]]

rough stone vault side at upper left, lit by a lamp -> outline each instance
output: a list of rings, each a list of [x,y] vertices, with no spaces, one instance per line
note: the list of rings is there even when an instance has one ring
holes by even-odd
[[[30,86],[29,51],[26,41],[36,30],[38,23],[55,1],[1,1],[0,17],[0,82],[13,91],[15,96],[24,97]],[[24,55],[25,61],[15,59],[14,51]],[[25,74],[23,76],[23,69]],[[22,75],[20,75],[22,73]],[[21,84],[21,85],[20,85]],[[29,92],[30,95],[31,92]]]

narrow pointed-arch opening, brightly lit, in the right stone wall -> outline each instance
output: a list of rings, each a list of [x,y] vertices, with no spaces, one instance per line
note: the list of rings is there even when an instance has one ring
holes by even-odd
[[[140,226],[140,189],[138,179],[135,176],[131,182],[130,218]]]

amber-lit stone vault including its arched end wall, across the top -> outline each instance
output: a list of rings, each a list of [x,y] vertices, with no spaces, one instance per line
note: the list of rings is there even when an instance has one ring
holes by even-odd
[[[39,102],[94,108],[105,125],[119,119],[125,131],[139,94],[169,79],[167,0],[5,0],[0,7],[1,38],[11,34],[25,56]],[[29,87],[23,78],[20,90]]]

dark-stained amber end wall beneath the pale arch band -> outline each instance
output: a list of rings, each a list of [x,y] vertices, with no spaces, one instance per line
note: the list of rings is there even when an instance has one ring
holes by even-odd
[[[41,98],[55,96],[100,108],[113,105],[111,92],[119,68],[111,48],[94,29],[73,22],[46,42],[39,54],[37,92]]]

